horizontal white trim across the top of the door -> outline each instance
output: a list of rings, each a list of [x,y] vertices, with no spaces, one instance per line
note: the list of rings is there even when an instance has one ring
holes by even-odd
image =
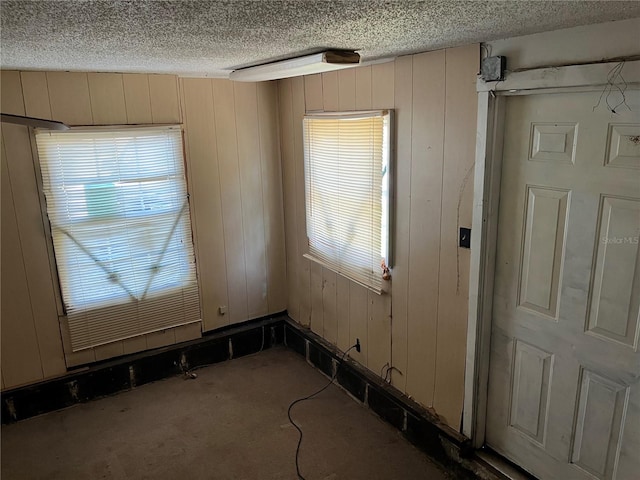
[[[611,69],[619,63],[594,63],[507,72],[506,78],[499,82],[485,82],[478,79],[476,88],[478,92],[508,92],[516,95],[522,95],[523,90],[547,93],[545,89],[549,88],[556,90],[571,88],[574,90],[576,87],[588,87],[589,90],[597,90],[598,87],[607,84],[607,77]],[[622,67],[622,75],[629,86],[640,85],[640,60],[625,62]]]

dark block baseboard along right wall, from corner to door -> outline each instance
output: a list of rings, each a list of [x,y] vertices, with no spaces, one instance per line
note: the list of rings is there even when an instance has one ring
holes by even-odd
[[[416,447],[442,464],[456,479],[504,479],[478,461],[471,441],[429,410],[347,358],[338,368],[342,352],[309,329],[287,317],[284,343],[332,377],[358,402],[397,428]]]

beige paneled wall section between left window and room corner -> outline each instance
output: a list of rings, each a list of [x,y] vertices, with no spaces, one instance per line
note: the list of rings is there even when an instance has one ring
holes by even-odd
[[[180,84],[204,329],[281,312],[277,86],[202,78]]]

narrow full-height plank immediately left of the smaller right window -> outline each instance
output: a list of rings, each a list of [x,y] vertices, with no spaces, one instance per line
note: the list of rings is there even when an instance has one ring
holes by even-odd
[[[320,77],[318,77],[320,78]],[[298,292],[300,299],[300,318],[311,321],[311,262],[302,257],[307,253],[307,213],[305,209],[304,187],[304,146],[302,142],[302,119],[305,114],[305,83],[302,77],[291,81],[292,113],[293,113],[293,155],[295,168],[296,195],[296,227],[298,241]],[[313,95],[312,95],[313,97]],[[320,97],[322,102],[322,97]],[[303,320],[305,322],[305,320]]]

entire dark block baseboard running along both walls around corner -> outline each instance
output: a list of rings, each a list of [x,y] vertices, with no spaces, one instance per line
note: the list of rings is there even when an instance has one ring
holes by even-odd
[[[224,327],[202,338],[92,364],[43,382],[2,392],[2,423],[131,390],[185,371],[258,353],[285,344],[332,377],[456,479],[503,480],[506,476],[479,459],[469,439],[441,422],[399,390],[347,358],[335,346],[291,320],[286,312]]]

